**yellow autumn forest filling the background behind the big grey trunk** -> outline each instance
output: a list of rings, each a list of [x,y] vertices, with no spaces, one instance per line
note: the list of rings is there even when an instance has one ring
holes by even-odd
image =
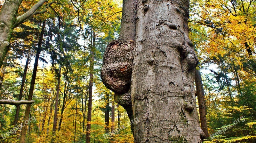
[[[18,13],[34,4],[24,0]],[[0,99],[33,96],[28,129],[19,128],[27,105],[0,104],[0,142],[20,142],[23,130],[26,143],[83,143],[90,124],[93,143],[132,143],[127,113],[100,78],[105,49],[120,31],[122,1],[57,0],[39,9],[46,12],[14,29],[0,74]],[[190,1],[190,39],[200,60],[210,136],[205,143],[256,142],[255,27],[255,0]]]

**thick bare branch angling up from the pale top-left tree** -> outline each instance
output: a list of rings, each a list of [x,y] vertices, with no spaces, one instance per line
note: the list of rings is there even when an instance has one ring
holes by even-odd
[[[17,23],[15,27],[20,25],[21,23],[28,20],[28,18],[32,17],[35,14],[40,14],[46,12],[46,9],[51,6],[51,4],[56,3],[55,0],[48,3],[46,6],[44,6],[44,9],[42,11],[37,11],[39,7],[41,7],[45,2],[48,2],[48,0],[39,0],[34,6],[32,6],[27,12],[17,17]]]

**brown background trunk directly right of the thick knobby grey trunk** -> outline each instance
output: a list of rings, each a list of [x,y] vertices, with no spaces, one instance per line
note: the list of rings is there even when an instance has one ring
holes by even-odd
[[[209,133],[208,133],[207,120],[206,120],[204,87],[203,87],[200,70],[196,70],[195,81],[196,81],[196,94],[197,94],[197,99],[198,99],[198,104],[199,104],[199,115],[200,115],[201,128],[204,131],[205,137],[208,138]]]

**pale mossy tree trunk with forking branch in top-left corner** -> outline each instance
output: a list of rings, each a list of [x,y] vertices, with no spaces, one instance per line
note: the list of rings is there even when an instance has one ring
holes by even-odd
[[[48,2],[48,0],[39,0],[27,12],[18,16],[18,10],[22,1],[23,0],[6,0],[0,12],[0,68],[3,65],[6,53],[9,51],[13,29],[24,23],[33,15],[46,12],[46,8],[55,3],[53,0],[49,2],[42,11],[37,11],[45,2]]]

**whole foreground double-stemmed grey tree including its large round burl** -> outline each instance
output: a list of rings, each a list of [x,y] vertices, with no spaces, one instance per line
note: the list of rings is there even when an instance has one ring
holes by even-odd
[[[107,47],[101,78],[130,120],[138,120],[135,143],[201,143],[205,137],[196,111],[198,59],[188,38],[188,7],[189,0],[123,2],[120,37]]]

